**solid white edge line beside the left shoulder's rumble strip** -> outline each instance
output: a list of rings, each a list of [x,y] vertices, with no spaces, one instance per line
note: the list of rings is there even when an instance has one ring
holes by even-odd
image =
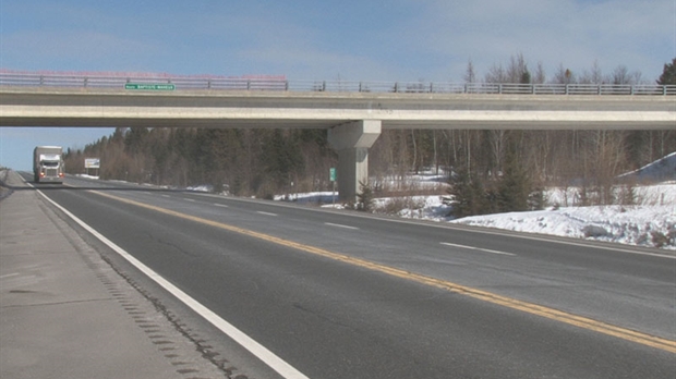
[[[70,217],[73,221],[75,221],[77,224],[84,228],[87,232],[92,233],[99,241],[108,245],[108,247],[112,248],[122,258],[126,259],[130,264],[132,264],[143,273],[145,273],[148,278],[154,280],[157,284],[159,284],[165,290],[167,290],[169,293],[171,293],[173,296],[176,296],[178,299],[183,302],[183,304],[188,305],[191,309],[196,311],[200,316],[204,317],[204,319],[209,321],[220,331],[222,331],[228,337],[230,337],[232,340],[234,340],[237,343],[242,345],[242,347],[246,349],[253,355],[258,357],[258,359],[263,360],[266,365],[268,365],[271,369],[274,369],[279,375],[281,375],[283,378],[309,379],[305,375],[297,370],[293,366],[289,365],[288,363],[282,360],[280,357],[275,355],[273,352],[267,350],[267,347],[263,346],[262,344],[253,340],[251,337],[244,334],[244,332],[237,329],[230,322],[220,318],[220,316],[216,315],[213,310],[205,307],[204,305],[202,305],[200,302],[195,301],[191,296],[189,296],[186,293],[181,291],[179,288],[173,285],[171,282],[169,282],[165,278],[162,278],[160,274],[155,272],[153,269],[142,264],[138,259],[134,258],[131,254],[126,253],[122,247],[116,245],[112,241],[108,240],[102,234],[100,234],[99,232],[94,230],[92,227],[86,224],[84,221],[80,220],[73,213],[68,211],[65,208],[61,207],[59,204],[57,204],[56,201],[47,197],[45,194],[43,194],[41,191],[38,190],[37,192],[44,198],[46,198],[49,203],[51,203],[55,207],[57,207],[59,210],[61,210],[63,213]]]

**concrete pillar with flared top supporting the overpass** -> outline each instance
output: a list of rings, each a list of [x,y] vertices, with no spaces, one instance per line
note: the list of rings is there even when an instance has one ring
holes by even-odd
[[[369,148],[381,135],[381,120],[360,120],[328,130],[328,143],[338,151],[338,194],[355,201],[360,182],[369,183]]]

